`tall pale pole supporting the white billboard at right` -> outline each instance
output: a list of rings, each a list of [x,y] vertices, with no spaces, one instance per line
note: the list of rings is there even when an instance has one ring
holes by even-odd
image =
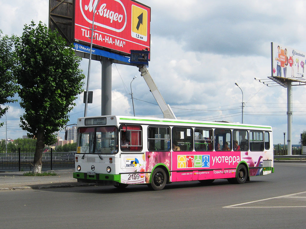
[[[291,143],[291,136],[292,136],[292,85],[291,82],[287,82],[287,152],[288,155],[292,155],[292,143]]]

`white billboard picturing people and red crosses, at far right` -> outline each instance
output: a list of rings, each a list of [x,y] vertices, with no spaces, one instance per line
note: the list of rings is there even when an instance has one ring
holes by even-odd
[[[271,76],[300,78],[304,76],[306,52],[271,42]]]

